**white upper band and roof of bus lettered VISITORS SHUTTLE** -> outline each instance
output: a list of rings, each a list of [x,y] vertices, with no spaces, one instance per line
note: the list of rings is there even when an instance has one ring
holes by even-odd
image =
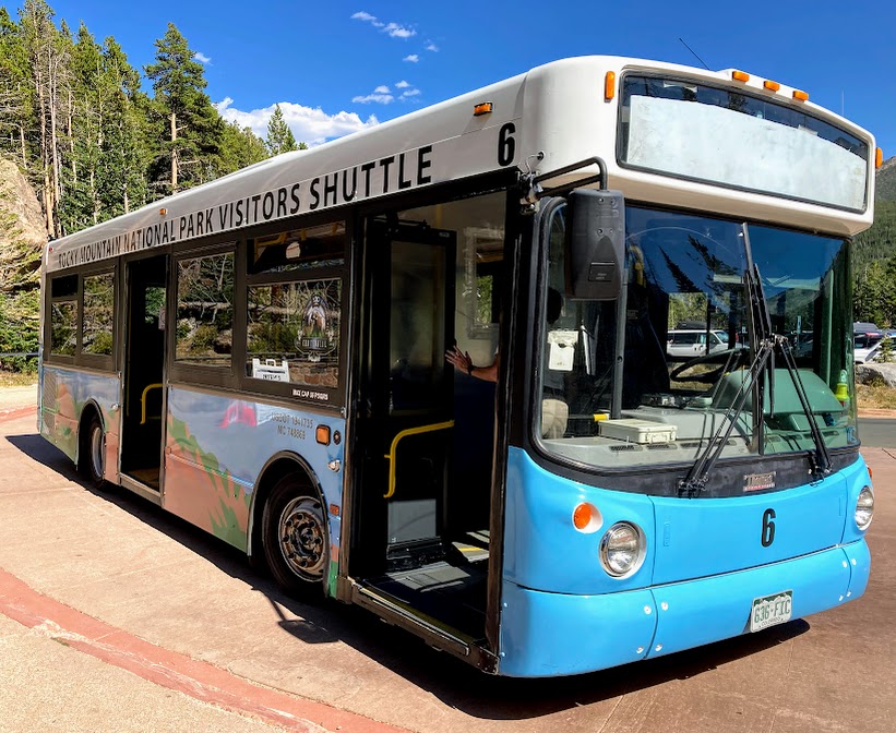
[[[270,158],[51,241],[46,266],[56,271],[225,232],[236,237],[255,224],[502,168],[550,172],[593,156],[606,161],[609,187],[631,200],[835,235],[853,235],[871,225],[872,190],[864,211],[849,212],[620,166],[616,155],[620,95],[605,98],[609,71],[618,79],[626,72],[661,73],[754,92],[763,88],[763,80],[756,77],[746,84],[732,82],[730,71],[622,57],[555,61],[318,147]],[[791,93],[781,86],[775,100],[796,104]],[[474,115],[480,103],[491,103],[492,111]],[[812,103],[799,104],[874,149],[868,132]],[[565,178],[594,172],[592,166]],[[871,161],[867,175],[873,184]]]

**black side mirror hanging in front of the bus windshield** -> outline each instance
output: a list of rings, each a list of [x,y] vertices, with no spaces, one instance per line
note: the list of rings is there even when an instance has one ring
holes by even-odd
[[[566,297],[616,300],[625,265],[625,199],[621,191],[572,191],[566,226]]]

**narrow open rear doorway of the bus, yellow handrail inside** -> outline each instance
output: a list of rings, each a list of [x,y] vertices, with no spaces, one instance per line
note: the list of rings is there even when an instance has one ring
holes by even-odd
[[[127,264],[127,345],[121,471],[158,491],[165,369],[167,255]]]

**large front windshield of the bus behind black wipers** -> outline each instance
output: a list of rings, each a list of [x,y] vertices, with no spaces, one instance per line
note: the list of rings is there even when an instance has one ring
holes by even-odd
[[[722,457],[812,450],[800,389],[827,447],[857,443],[844,240],[629,206],[622,296],[574,300],[564,295],[564,214],[551,220],[537,369],[546,452],[597,469],[693,461],[731,420]],[[797,364],[796,375],[769,365],[761,413],[749,375],[751,255],[772,332]],[[729,414],[741,392],[742,409]]]

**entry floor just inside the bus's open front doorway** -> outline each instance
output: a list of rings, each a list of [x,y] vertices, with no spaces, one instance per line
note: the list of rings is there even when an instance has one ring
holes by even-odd
[[[486,624],[488,553],[476,562],[445,561],[386,573],[370,582],[380,592],[462,632],[480,638]]]

